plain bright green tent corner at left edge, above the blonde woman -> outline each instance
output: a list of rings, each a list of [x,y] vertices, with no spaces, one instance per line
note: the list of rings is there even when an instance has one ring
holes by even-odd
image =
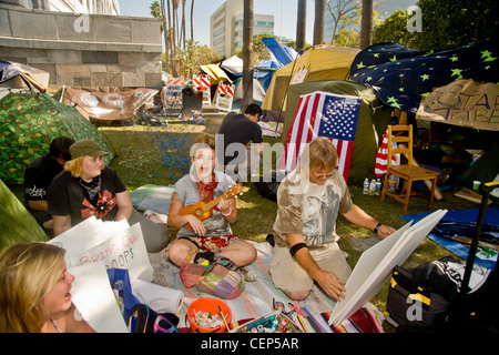
[[[17,242],[45,242],[37,220],[0,180],[0,250]]]

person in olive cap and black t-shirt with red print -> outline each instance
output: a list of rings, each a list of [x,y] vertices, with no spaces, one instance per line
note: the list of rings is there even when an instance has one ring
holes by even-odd
[[[147,252],[166,247],[170,231],[164,223],[153,223],[138,213],[125,185],[116,172],[105,166],[99,143],[82,140],[70,146],[71,160],[57,175],[48,194],[49,212],[53,217],[54,236],[64,233],[88,217],[102,221],[128,220],[141,224]]]

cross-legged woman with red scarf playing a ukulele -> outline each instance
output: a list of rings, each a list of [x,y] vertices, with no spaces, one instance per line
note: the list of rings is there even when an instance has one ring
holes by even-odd
[[[200,201],[212,201],[235,185],[225,173],[215,171],[215,138],[201,134],[191,149],[191,172],[175,183],[172,195],[169,226],[180,229],[176,240],[169,247],[169,258],[177,266],[192,261],[201,252],[216,253],[241,267],[256,258],[256,250],[233,234],[231,223],[237,221],[237,206],[234,197],[222,199],[213,209],[213,214],[201,221],[193,214],[182,214],[185,206]],[[191,229],[186,225],[190,224]]]

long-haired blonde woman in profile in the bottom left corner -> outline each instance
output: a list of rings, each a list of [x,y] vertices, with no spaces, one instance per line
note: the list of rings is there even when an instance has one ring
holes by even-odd
[[[64,250],[18,243],[0,253],[0,333],[94,333],[71,302]],[[80,318],[78,316],[78,318]]]

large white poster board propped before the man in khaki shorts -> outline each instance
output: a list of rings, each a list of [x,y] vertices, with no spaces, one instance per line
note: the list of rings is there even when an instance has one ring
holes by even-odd
[[[345,298],[336,303],[329,324],[343,323],[373,298],[389,280],[393,268],[409,257],[446,213],[447,210],[439,210],[413,226],[407,223],[365,251],[348,277]]]

